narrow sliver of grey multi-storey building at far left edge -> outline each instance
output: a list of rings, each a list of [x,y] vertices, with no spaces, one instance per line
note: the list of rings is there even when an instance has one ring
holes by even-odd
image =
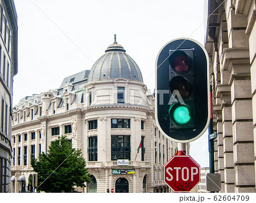
[[[0,1],[0,192],[11,192],[11,106],[18,72],[17,16],[13,0]]]

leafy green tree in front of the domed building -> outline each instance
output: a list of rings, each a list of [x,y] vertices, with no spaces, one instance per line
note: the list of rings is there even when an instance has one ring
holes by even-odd
[[[81,150],[72,148],[64,136],[52,141],[48,154],[32,159],[31,165],[38,173],[38,189],[44,192],[74,192],[74,186],[85,187],[90,181]]]

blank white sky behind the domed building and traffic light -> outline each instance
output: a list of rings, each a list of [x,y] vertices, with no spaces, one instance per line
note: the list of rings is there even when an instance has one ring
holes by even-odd
[[[92,68],[114,42],[114,34],[138,64],[144,84],[154,90],[155,60],[164,44],[184,37],[204,45],[204,1],[14,0],[18,74],[13,106]],[[191,143],[191,156],[201,167],[209,165],[207,134]]]

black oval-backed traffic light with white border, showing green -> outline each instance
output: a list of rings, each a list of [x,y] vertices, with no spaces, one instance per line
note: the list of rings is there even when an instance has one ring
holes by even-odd
[[[156,58],[156,122],[176,142],[191,142],[207,130],[208,64],[207,51],[192,39],[172,40]]]

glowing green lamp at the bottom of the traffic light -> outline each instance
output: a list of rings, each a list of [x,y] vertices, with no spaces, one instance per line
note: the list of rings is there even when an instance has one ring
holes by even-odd
[[[192,120],[191,110],[189,107],[178,103],[170,107],[169,115],[174,122],[180,126],[187,125]]]

